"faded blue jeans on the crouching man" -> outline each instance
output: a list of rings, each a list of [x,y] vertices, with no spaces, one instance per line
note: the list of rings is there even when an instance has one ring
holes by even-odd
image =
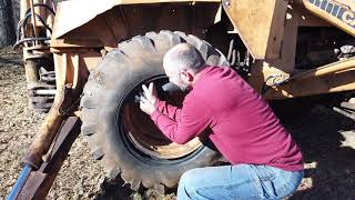
[[[197,168],[180,179],[178,200],[282,199],[294,193],[302,171],[235,164]]]

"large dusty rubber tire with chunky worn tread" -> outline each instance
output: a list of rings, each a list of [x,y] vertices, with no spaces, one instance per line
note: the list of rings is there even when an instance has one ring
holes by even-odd
[[[206,41],[183,32],[149,32],[119,43],[90,73],[81,100],[82,133],[94,159],[101,160],[110,178],[121,177],[132,190],[166,192],[178,186],[186,170],[212,166],[220,153],[206,146],[174,160],[152,159],[132,148],[119,128],[120,108],[126,93],[151,77],[164,74],[165,52],[187,42],[196,47],[207,64],[229,66],[225,57]]]

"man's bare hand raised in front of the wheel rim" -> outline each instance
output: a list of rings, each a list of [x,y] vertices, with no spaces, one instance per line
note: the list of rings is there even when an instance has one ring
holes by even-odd
[[[144,91],[143,96],[140,97],[140,109],[148,113],[151,114],[155,111],[155,101],[156,101],[156,90],[154,88],[153,82],[149,84],[149,88],[146,88],[145,84],[142,86],[142,89]]]

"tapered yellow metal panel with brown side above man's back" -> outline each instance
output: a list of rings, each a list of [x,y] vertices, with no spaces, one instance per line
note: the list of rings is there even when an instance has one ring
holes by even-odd
[[[284,0],[223,0],[223,8],[255,59],[280,58],[287,9]]]

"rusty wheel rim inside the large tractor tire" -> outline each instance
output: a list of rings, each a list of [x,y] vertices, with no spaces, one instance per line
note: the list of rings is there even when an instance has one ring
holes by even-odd
[[[156,78],[149,79],[144,81],[145,83],[154,81],[155,88],[161,88],[168,82],[166,77],[160,76]],[[199,138],[191,140],[185,144],[178,144],[171,142],[154,124],[150,117],[143,113],[139,103],[132,102],[132,97],[134,97],[140,90],[141,84],[134,87],[126,96],[122,104],[121,117],[122,121],[119,121],[122,126],[123,134],[129,139],[129,142],[140,151],[141,153],[158,159],[181,159],[191,154],[197,150],[202,143]],[[184,94],[174,93],[170,94],[166,92],[161,92],[158,90],[159,97],[169,103],[181,106]]]

